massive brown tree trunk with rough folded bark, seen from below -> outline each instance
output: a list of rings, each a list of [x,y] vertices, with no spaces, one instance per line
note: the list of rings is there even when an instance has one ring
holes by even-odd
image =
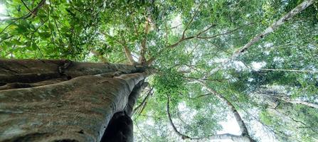
[[[132,65],[0,60],[0,141],[100,141],[150,74]]]

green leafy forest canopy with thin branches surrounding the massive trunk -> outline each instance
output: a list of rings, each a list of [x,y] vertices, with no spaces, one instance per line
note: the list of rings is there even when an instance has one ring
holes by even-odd
[[[0,58],[153,67],[134,141],[318,141],[314,0],[2,0]]]

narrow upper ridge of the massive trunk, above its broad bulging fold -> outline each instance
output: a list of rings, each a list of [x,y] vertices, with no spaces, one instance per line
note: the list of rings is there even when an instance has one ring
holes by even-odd
[[[70,60],[0,60],[0,84],[39,82],[56,78],[97,75],[110,72],[142,72],[144,67]]]

